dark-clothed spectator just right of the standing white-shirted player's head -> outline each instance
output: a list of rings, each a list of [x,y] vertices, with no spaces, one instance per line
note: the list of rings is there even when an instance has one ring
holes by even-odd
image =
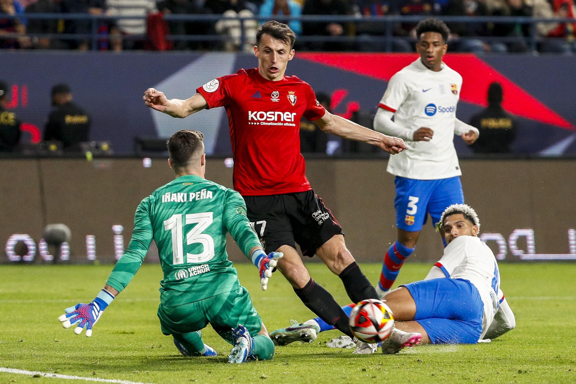
[[[480,0],[449,0],[442,7],[444,16],[489,16],[488,7]],[[450,48],[454,51],[473,52],[482,54],[483,52],[506,52],[506,45],[502,43],[487,44],[481,39],[489,36],[487,23],[475,22],[452,22],[447,23],[450,28]],[[467,39],[460,39],[466,37]],[[452,48],[453,47],[453,48]]]

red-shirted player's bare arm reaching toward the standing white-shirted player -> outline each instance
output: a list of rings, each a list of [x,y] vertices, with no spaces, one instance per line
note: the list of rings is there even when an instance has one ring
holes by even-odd
[[[326,111],[324,116],[315,120],[314,123],[320,127],[324,132],[340,136],[344,139],[356,140],[380,147],[382,150],[396,154],[408,149],[404,144],[404,140],[392,136],[386,136],[380,132],[369,130],[362,127],[350,120],[344,119],[337,115]]]

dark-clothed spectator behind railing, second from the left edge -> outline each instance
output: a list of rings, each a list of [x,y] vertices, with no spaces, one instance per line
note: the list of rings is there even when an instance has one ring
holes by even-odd
[[[62,0],[38,0],[26,7],[26,13],[64,13],[66,9]],[[28,33],[64,33],[65,20],[40,20],[30,19]],[[32,46],[39,49],[68,49],[69,44],[60,39],[49,37],[33,37]]]

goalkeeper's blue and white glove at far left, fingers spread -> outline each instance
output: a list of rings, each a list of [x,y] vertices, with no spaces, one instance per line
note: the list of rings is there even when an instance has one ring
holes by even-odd
[[[73,307],[66,308],[64,310],[66,313],[60,315],[58,320],[62,322],[64,328],[78,324],[74,329],[75,334],[80,334],[82,329],[86,327],[86,337],[90,337],[92,336],[92,327],[100,320],[100,316],[113,299],[114,296],[108,291],[101,290],[92,302],[88,304],[78,303]]]

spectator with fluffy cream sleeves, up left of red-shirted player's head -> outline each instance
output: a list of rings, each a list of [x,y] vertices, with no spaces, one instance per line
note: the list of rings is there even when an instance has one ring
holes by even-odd
[[[257,22],[254,13],[248,9],[244,0],[210,0],[206,7],[214,14],[222,14],[223,20],[218,20],[215,25],[216,32],[228,36],[224,43],[226,51],[236,51],[241,48],[245,52],[252,52],[256,45]],[[240,22],[238,18],[249,18]],[[240,47],[242,28],[244,29],[244,47]]]

